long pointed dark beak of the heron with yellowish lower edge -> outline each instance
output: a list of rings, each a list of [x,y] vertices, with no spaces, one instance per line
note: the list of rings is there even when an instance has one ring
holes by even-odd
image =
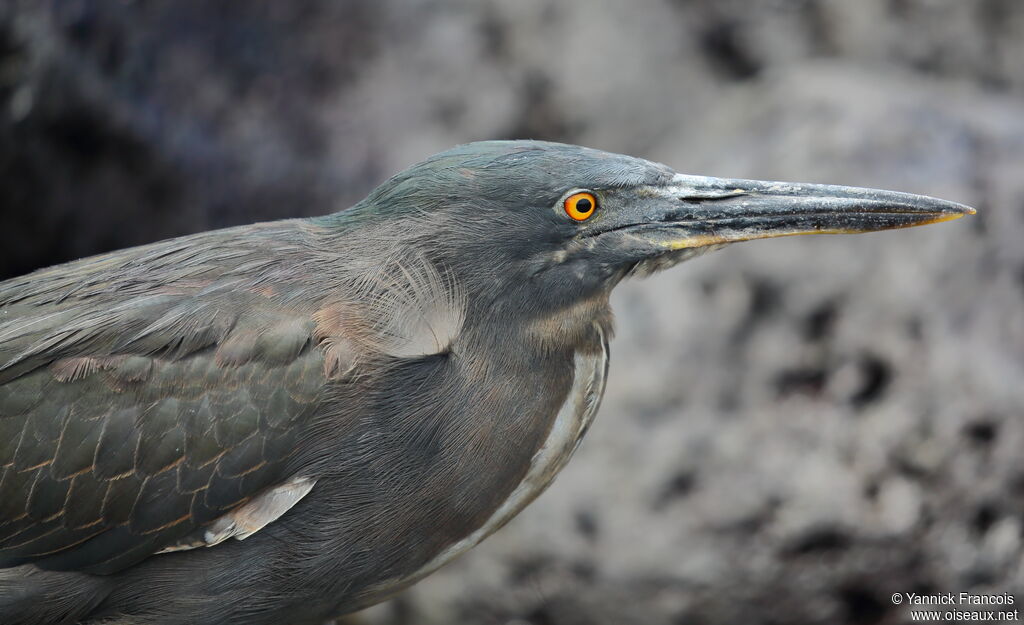
[[[677,174],[648,187],[662,202],[637,230],[659,246],[684,249],[812,234],[911,227],[974,214],[963,204],[893,191]]]

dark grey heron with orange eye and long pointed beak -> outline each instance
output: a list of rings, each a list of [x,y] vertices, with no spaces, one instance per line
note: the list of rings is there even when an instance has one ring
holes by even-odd
[[[0,283],[0,621],[323,623],[551,484],[624,279],[974,210],[480,141],[354,206]]]

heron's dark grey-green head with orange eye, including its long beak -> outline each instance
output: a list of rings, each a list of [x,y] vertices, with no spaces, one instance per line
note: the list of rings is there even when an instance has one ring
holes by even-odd
[[[438,154],[355,209],[451,267],[471,297],[542,311],[737,241],[866,233],[972,212],[905,193],[686,175],[541,141]]]

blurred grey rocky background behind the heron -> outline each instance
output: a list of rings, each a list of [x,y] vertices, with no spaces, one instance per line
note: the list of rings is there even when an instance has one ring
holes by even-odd
[[[358,622],[900,623],[894,592],[1022,590],[1020,0],[6,0],[0,278],[503,137],[979,214],[621,288],[573,462]]]

